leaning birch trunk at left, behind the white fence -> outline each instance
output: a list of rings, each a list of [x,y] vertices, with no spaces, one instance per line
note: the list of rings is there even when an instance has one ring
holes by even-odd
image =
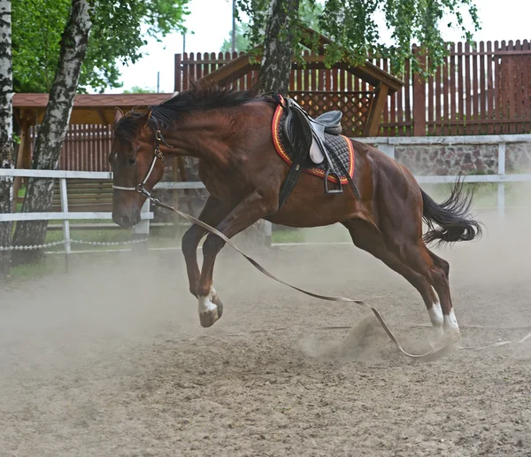
[[[90,22],[89,0],[72,0],[70,14],[61,37],[58,69],[50,90],[50,101],[35,141],[32,168],[53,170],[58,167],[59,153],[65,140],[73,97],[77,90],[81,64],[85,58]],[[31,178],[27,183],[22,211],[50,211],[53,180]],[[14,244],[43,244],[47,221],[19,222],[15,229]],[[13,255],[16,264],[27,263],[42,256],[42,250],[18,251]]]

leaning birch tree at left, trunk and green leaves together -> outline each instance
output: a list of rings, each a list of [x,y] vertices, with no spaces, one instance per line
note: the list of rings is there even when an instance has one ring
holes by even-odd
[[[16,1],[21,8],[27,9],[46,5],[50,8],[58,7],[59,13],[61,4],[68,2],[68,0]],[[188,3],[189,0],[71,1],[65,27],[58,43],[57,66],[50,88],[49,103],[35,141],[32,168],[57,168],[73,108],[73,97],[80,89],[80,81],[96,84],[96,86],[104,85],[105,81],[116,83],[112,75],[118,74],[115,73],[118,60],[134,62],[135,59],[140,58],[142,54],[139,49],[146,43],[146,36],[160,39],[161,36],[171,31],[184,29],[182,20],[188,14],[186,9]],[[45,12],[49,13],[48,10]],[[41,16],[37,14],[35,17]],[[48,19],[45,23],[50,27]],[[39,29],[38,24],[30,24],[27,27],[31,26]],[[28,32],[24,36],[27,38],[32,36],[32,33]],[[31,40],[21,40],[20,43],[30,42]],[[48,49],[50,52],[57,49],[54,47],[53,38],[50,39]],[[18,57],[21,58],[20,55]],[[46,58],[43,62],[45,66],[49,66],[50,62],[54,62],[54,58]],[[83,67],[83,64],[87,65]],[[24,66],[17,64],[15,67],[19,68],[19,74],[24,73]],[[98,76],[98,72],[103,73]],[[22,76],[19,81],[24,81]],[[52,192],[52,180],[30,179],[22,210],[24,212],[49,211]],[[43,244],[46,228],[46,221],[19,222],[15,229],[13,243],[17,245]],[[12,256],[12,261],[16,264],[27,263],[41,256],[41,250],[17,251]]]

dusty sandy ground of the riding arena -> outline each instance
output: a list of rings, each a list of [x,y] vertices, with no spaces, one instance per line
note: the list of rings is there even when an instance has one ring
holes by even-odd
[[[464,345],[531,331],[526,227],[439,252]],[[407,349],[426,348],[418,293],[354,246],[257,257],[366,299]],[[211,329],[180,252],[85,256],[70,275],[4,285],[0,455],[531,455],[531,339],[415,361],[366,309],[305,297],[227,249],[215,285]]]

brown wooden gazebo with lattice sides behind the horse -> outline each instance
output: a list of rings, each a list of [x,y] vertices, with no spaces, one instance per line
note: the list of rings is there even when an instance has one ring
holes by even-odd
[[[386,98],[402,89],[404,82],[368,61],[363,66],[340,62],[327,68],[324,50],[331,43],[327,37],[307,28],[301,44],[310,47],[316,39],[319,54],[307,52],[304,67],[296,60],[292,64],[289,96],[313,117],[329,110],[341,110],[346,136],[378,136]],[[213,69],[220,64],[224,65]],[[257,81],[259,68],[259,64],[251,63],[247,53],[228,61],[216,59],[213,54],[197,53],[195,59],[193,55],[177,54],[174,89],[189,89],[189,80],[193,79],[199,85],[232,83],[238,89],[249,89]]]

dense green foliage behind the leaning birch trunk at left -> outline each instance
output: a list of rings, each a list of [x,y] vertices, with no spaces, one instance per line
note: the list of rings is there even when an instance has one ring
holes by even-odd
[[[119,87],[119,64],[135,63],[148,37],[181,30],[189,0],[95,2],[78,90]],[[58,65],[69,0],[12,0],[15,92],[49,92]]]

